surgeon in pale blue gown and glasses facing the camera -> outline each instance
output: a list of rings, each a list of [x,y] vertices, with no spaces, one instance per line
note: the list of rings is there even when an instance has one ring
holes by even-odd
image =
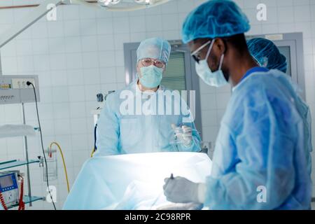
[[[140,43],[137,79],[107,97],[97,123],[94,156],[201,151],[187,104],[179,94],[172,100],[161,97],[174,93],[160,85],[170,52],[171,45],[162,38]]]

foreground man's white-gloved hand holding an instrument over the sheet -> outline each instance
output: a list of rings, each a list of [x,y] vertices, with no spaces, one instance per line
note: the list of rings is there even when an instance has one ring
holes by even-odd
[[[183,177],[176,177],[175,179],[165,179],[165,185],[163,186],[164,194],[169,202],[175,203],[203,203],[200,195],[201,183],[193,183]],[[204,194],[204,190],[201,191]]]

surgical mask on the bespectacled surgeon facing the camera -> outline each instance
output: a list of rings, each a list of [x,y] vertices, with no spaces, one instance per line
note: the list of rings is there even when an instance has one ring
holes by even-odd
[[[148,88],[158,87],[162,80],[163,69],[154,65],[141,67],[141,77],[139,76],[142,85]]]

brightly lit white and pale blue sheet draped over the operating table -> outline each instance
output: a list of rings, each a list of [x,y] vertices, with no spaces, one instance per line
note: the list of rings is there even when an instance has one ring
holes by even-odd
[[[170,204],[162,186],[171,174],[205,182],[211,160],[204,153],[144,153],[87,160],[63,209],[157,209]]]

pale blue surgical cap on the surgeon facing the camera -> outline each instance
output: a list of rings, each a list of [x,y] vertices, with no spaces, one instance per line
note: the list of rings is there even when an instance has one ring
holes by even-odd
[[[162,62],[169,62],[171,45],[162,38],[149,38],[142,41],[137,50],[137,61],[144,58],[159,59]]]

